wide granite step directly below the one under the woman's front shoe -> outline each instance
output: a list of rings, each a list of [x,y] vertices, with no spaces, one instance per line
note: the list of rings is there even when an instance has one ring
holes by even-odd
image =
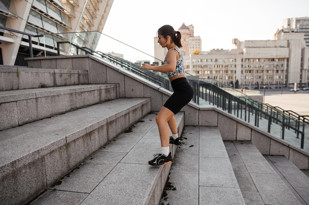
[[[185,126],[160,205],[244,205],[217,127]]]

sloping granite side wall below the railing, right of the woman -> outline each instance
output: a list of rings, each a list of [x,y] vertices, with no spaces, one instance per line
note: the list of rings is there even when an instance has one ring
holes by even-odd
[[[220,109],[200,109],[198,116],[199,126],[218,126],[224,141],[251,141],[263,155],[284,155],[299,169],[309,169],[309,154],[303,149],[289,145]]]

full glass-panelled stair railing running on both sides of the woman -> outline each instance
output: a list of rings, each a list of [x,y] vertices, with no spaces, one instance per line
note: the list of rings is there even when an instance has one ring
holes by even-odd
[[[172,90],[166,74],[139,69],[144,62],[160,65],[162,59],[155,59],[153,56],[108,35],[93,31],[59,33],[56,36],[46,35],[45,37],[67,42],[58,44],[61,55],[91,54],[96,58],[108,60],[119,68],[135,73],[163,88]],[[291,143],[293,146],[308,147],[308,123],[298,120],[298,116],[294,113],[287,113],[279,108],[271,107],[248,95],[248,92],[256,90],[246,93],[214,79],[198,78],[189,73],[186,73],[186,76],[194,90],[193,102],[200,107],[214,106],[266,133]],[[257,94],[260,94],[261,97],[261,93],[253,93],[253,95]]]

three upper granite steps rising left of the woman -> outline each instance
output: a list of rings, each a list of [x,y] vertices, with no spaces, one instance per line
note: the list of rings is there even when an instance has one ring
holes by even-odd
[[[1,204],[29,203],[151,112],[150,98],[119,98],[119,84],[79,85],[83,76],[0,68]]]

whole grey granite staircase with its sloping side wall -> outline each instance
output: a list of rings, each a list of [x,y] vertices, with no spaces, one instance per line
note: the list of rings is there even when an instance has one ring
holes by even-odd
[[[243,150],[244,158],[252,152],[242,168],[257,163],[270,169],[261,152],[276,153],[278,147],[307,159],[213,106],[190,103],[176,115],[185,144],[177,152],[170,146],[175,163],[149,166],[160,147],[155,113],[171,92],[89,56],[35,58],[29,64],[0,67],[0,204],[255,205],[246,193],[272,203],[277,196],[268,196],[269,184],[259,183],[270,173],[248,169],[244,176],[256,176],[257,188],[243,189],[227,145],[239,149],[237,156]],[[65,69],[67,64],[72,67]],[[249,142],[227,142],[239,140]],[[269,142],[267,148],[262,142]],[[160,201],[168,177],[177,190],[169,191],[170,201]],[[282,180],[275,184],[293,205],[306,198],[307,187],[295,188],[305,193],[295,197]]]

